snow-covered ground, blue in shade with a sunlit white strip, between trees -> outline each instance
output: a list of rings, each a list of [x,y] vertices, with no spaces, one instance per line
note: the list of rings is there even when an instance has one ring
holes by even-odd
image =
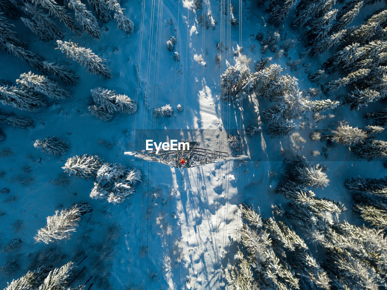
[[[262,57],[254,35],[259,29],[263,32],[267,29],[265,11],[260,11],[252,1],[233,2],[234,15],[240,22],[234,27],[230,25],[229,14],[220,10],[223,1],[203,3],[202,8],[195,10],[192,1],[184,0],[122,1],[125,13],[135,23],[132,35],[118,30],[114,21],[103,26],[102,36],[97,40],[85,34],[70,36],[67,31],[63,40],[71,37],[72,41],[92,48],[107,59],[113,75],[108,81],[88,74],[77,63],[65,59],[54,49],[53,42],[43,43],[25,27],[15,27],[29,43],[30,50],[45,59],[68,63],[79,74],[80,82],[68,87],[74,95],[70,100],[51,100],[38,113],[12,110],[32,117],[34,129],[1,126],[6,139],[0,143],[0,150],[10,148],[13,154],[0,156],[0,172],[4,172],[4,176],[0,175],[0,189],[10,189],[10,193],[0,195],[0,246],[3,249],[14,238],[22,240],[19,249],[0,254],[0,264],[15,261],[19,265],[8,274],[3,272],[1,286],[42,263],[58,265],[72,260],[77,264],[87,256],[79,266],[79,270],[84,266],[86,269],[74,285],[93,276],[92,289],[221,289],[226,285],[223,269],[234,261],[238,248],[238,204],[254,204],[267,218],[272,215],[272,204],[285,202],[273,191],[281,177],[284,157],[298,152],[309,161],[323,161],[329,168],[330,185],[315,193],[342,201],[347,208],[352,201],[343,185],[346,178],[384,176],[382,162],[356,160],[344,146],[327,148],[327,158],[313,157],[312,150],[323,153],[326,144],[310,141],[311,129],[298,131],[306,143],[299,143],[293,137],[273,138],[267,134],[266,124],[261,134],[253,138],[246,136],[243,129],[257,122],[256,110],[261,113],[268,101],[258,98],[259,105],[245,100],[242,105],[234,106],[220,100],[220,74],[228,64],[235,63],[237,44],[243,46],[243,54],[252,58],[250,67],[254,70],[254,62]],[[214,29],[211,25],[206,29],[199,23],[199,16],[210,12]],[[287,30],[281,37],[296,38],[297,34],[298,31]],[[172,35],[177,39],[178,62],[166,46]],[[217,50],[219,41],[228,49]],[[270,51],[265,55],[273,57],[272,63],[286,68],[289,57],[296,60],[301,52],[299,43],[289,51],[288,57],[275,59],[275,53]],[[222,57],[219,66],[215,62],[218,53]],[[310,62],[318,67],[325,59],[323,54]],[[3,67],[0,79],[14,83],[20,74],[31,70],[25,62],[4,52],[0,62]],[[317,87],[307,79],[301,65],[297,71],[287,68],[285,73],[296,76],[301,89]],[[127,94],[136,100],[139,110],[135,115],[117,114],[108,122],[97,120],[87,113],[87,106],[90,90],[98,86]],[[335,99],[335,96],[329,97]],[[174,115],[154,118],[152,109],[165,104],[175,109]],[[185,107],[183,112],[176,110],[178,104]],[[6,106],[1,108],[11,111]],[[343,119],[354,126],[362,125],[358,121],[362,111],[350,112],[340,107],[329,113],[335,115],[333,120],[315,124],[312,116],[306,115],[299,122],[311,124],[314,130],[327,130],[328,124]],[[194,140],[202,147],[230,152],[227,136],[235,130],[245,140],[243,154],[249,156],[246,162],[230,161],[180,171],[123,154],[145,149],[144,132],[154,134],[152,137],[158,142],[180,136],[180,140]],[[47,135],[68,141],[70,151],[59,157],[39,152],[33,143]],[[137,192],[119,205],[91,200],[92,180],[61,175],[67,158],[84,153],[139,167],[144,180]],[[58,178],[62,181],[58,182]],[[93,212],[81,218],[72,239],[50,246],[34,244],[33,237],[45,226],[46,216],[77,201],[91,202]],[[357,220],[350,211],[344,218]],[[111,225],[118,227],[116,235],[111,234]],[[99,256],[106,250],[104,245],[113,251],[101,261]],[[107,280],[102,279],[103,272],[110,273]]]

